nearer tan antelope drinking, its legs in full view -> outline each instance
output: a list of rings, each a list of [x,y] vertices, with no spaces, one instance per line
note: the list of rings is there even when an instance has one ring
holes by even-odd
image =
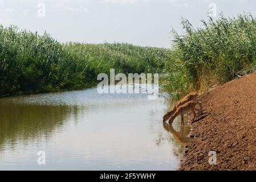
[[[200,105],[201,110],[195,108],[197,104]],[[178,115],[181,115],[181,125],[184,125],[183,115],[189,113],[189,111],[192,111],[192,113],[194,115],[192,121],[194,121],[194,118],[196,117],[196,112],[194,110],[200,111],[200,114],[202,114],[202,104],[201,104],[201,102],[198,102],[198,101],[186,102],[185,104],[179,106],[178,109],[176,109],[175,113],[169,119],[169,124],[172,125],[173,120]]]

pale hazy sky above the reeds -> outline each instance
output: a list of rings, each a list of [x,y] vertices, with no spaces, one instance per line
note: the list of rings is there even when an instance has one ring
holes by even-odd
[[[46,31],[60,42],[123,42],[169,48],[181,18],[200,19],[251,13],[255,0],[0,0],[0,24]]]

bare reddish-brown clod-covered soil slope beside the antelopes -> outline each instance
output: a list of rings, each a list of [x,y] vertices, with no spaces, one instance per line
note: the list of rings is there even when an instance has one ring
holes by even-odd
[[[179,170],[256,170],[256,74],[216,86],[199,97],[204,114],[192,123]],[[209,151],[217,164],[210,165]]]

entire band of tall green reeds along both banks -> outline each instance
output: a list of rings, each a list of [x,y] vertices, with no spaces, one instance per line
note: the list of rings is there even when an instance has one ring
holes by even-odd
[[[0,26],[0,96],[83,89],[99,73],[165,73],[161,84],[178,99],[256,68],[256,19],[250,14],[201,20],[173,31],[171,49],[125,43],[62,44],[50,35]]]

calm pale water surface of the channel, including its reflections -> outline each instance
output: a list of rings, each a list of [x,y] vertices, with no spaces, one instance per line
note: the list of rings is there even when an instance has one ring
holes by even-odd
[[[96,89],[2,98],[0,169],[175,170],[189,127],[163,124],[166,109],[164,98]]]

